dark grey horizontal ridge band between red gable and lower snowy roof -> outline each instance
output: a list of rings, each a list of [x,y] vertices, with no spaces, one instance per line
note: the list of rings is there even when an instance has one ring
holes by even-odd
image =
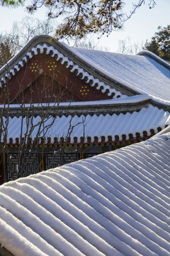
[[[98,105],[96,103],[93,105],[70,105],[70,102],[68,102],[67,106],[62,106],[62,105],[56,105],[55,103],[52,107],[44,106],[43,110],[42,110],[42,106],[33,106],[33,113],[34,116],[37,116],[40,114],[41,111],[46,112],[48,110],[49,114],[51,115],[58,115],[58,116],[68,116],[68,115],[74,115],[77,114],[78,116],[80,114],[84,114],[84,116],[86,116],[87,114],[120,114],[120,113],[127,113],[127,112],[134,112],[134,111],[140,111],[142,109],[142,107],[148,107],[149,102],[150,102],[150,98],[148,97],[145,100],[140,100],[139,102],[123,102],[123,103],[113,103],[113,104],[101,104]],[[74,103],[74,102],[73,102]],[[1,107],[3,107],[4,109],[4,105],[1,106],[0,105],[0,110]],[[12,107],[7,107],[7,110],[4,109],[4,116],[6,115],[5,112],[8,112],[8,114],[11,117],[19,117],[21,116],[21,107],[20,106],[12,106]],[[29,112],[32,113],[32,111],[30,111],[30,106],[28,107],[28,111],[27,111],[27,107],[25,107],[25,112]]]

